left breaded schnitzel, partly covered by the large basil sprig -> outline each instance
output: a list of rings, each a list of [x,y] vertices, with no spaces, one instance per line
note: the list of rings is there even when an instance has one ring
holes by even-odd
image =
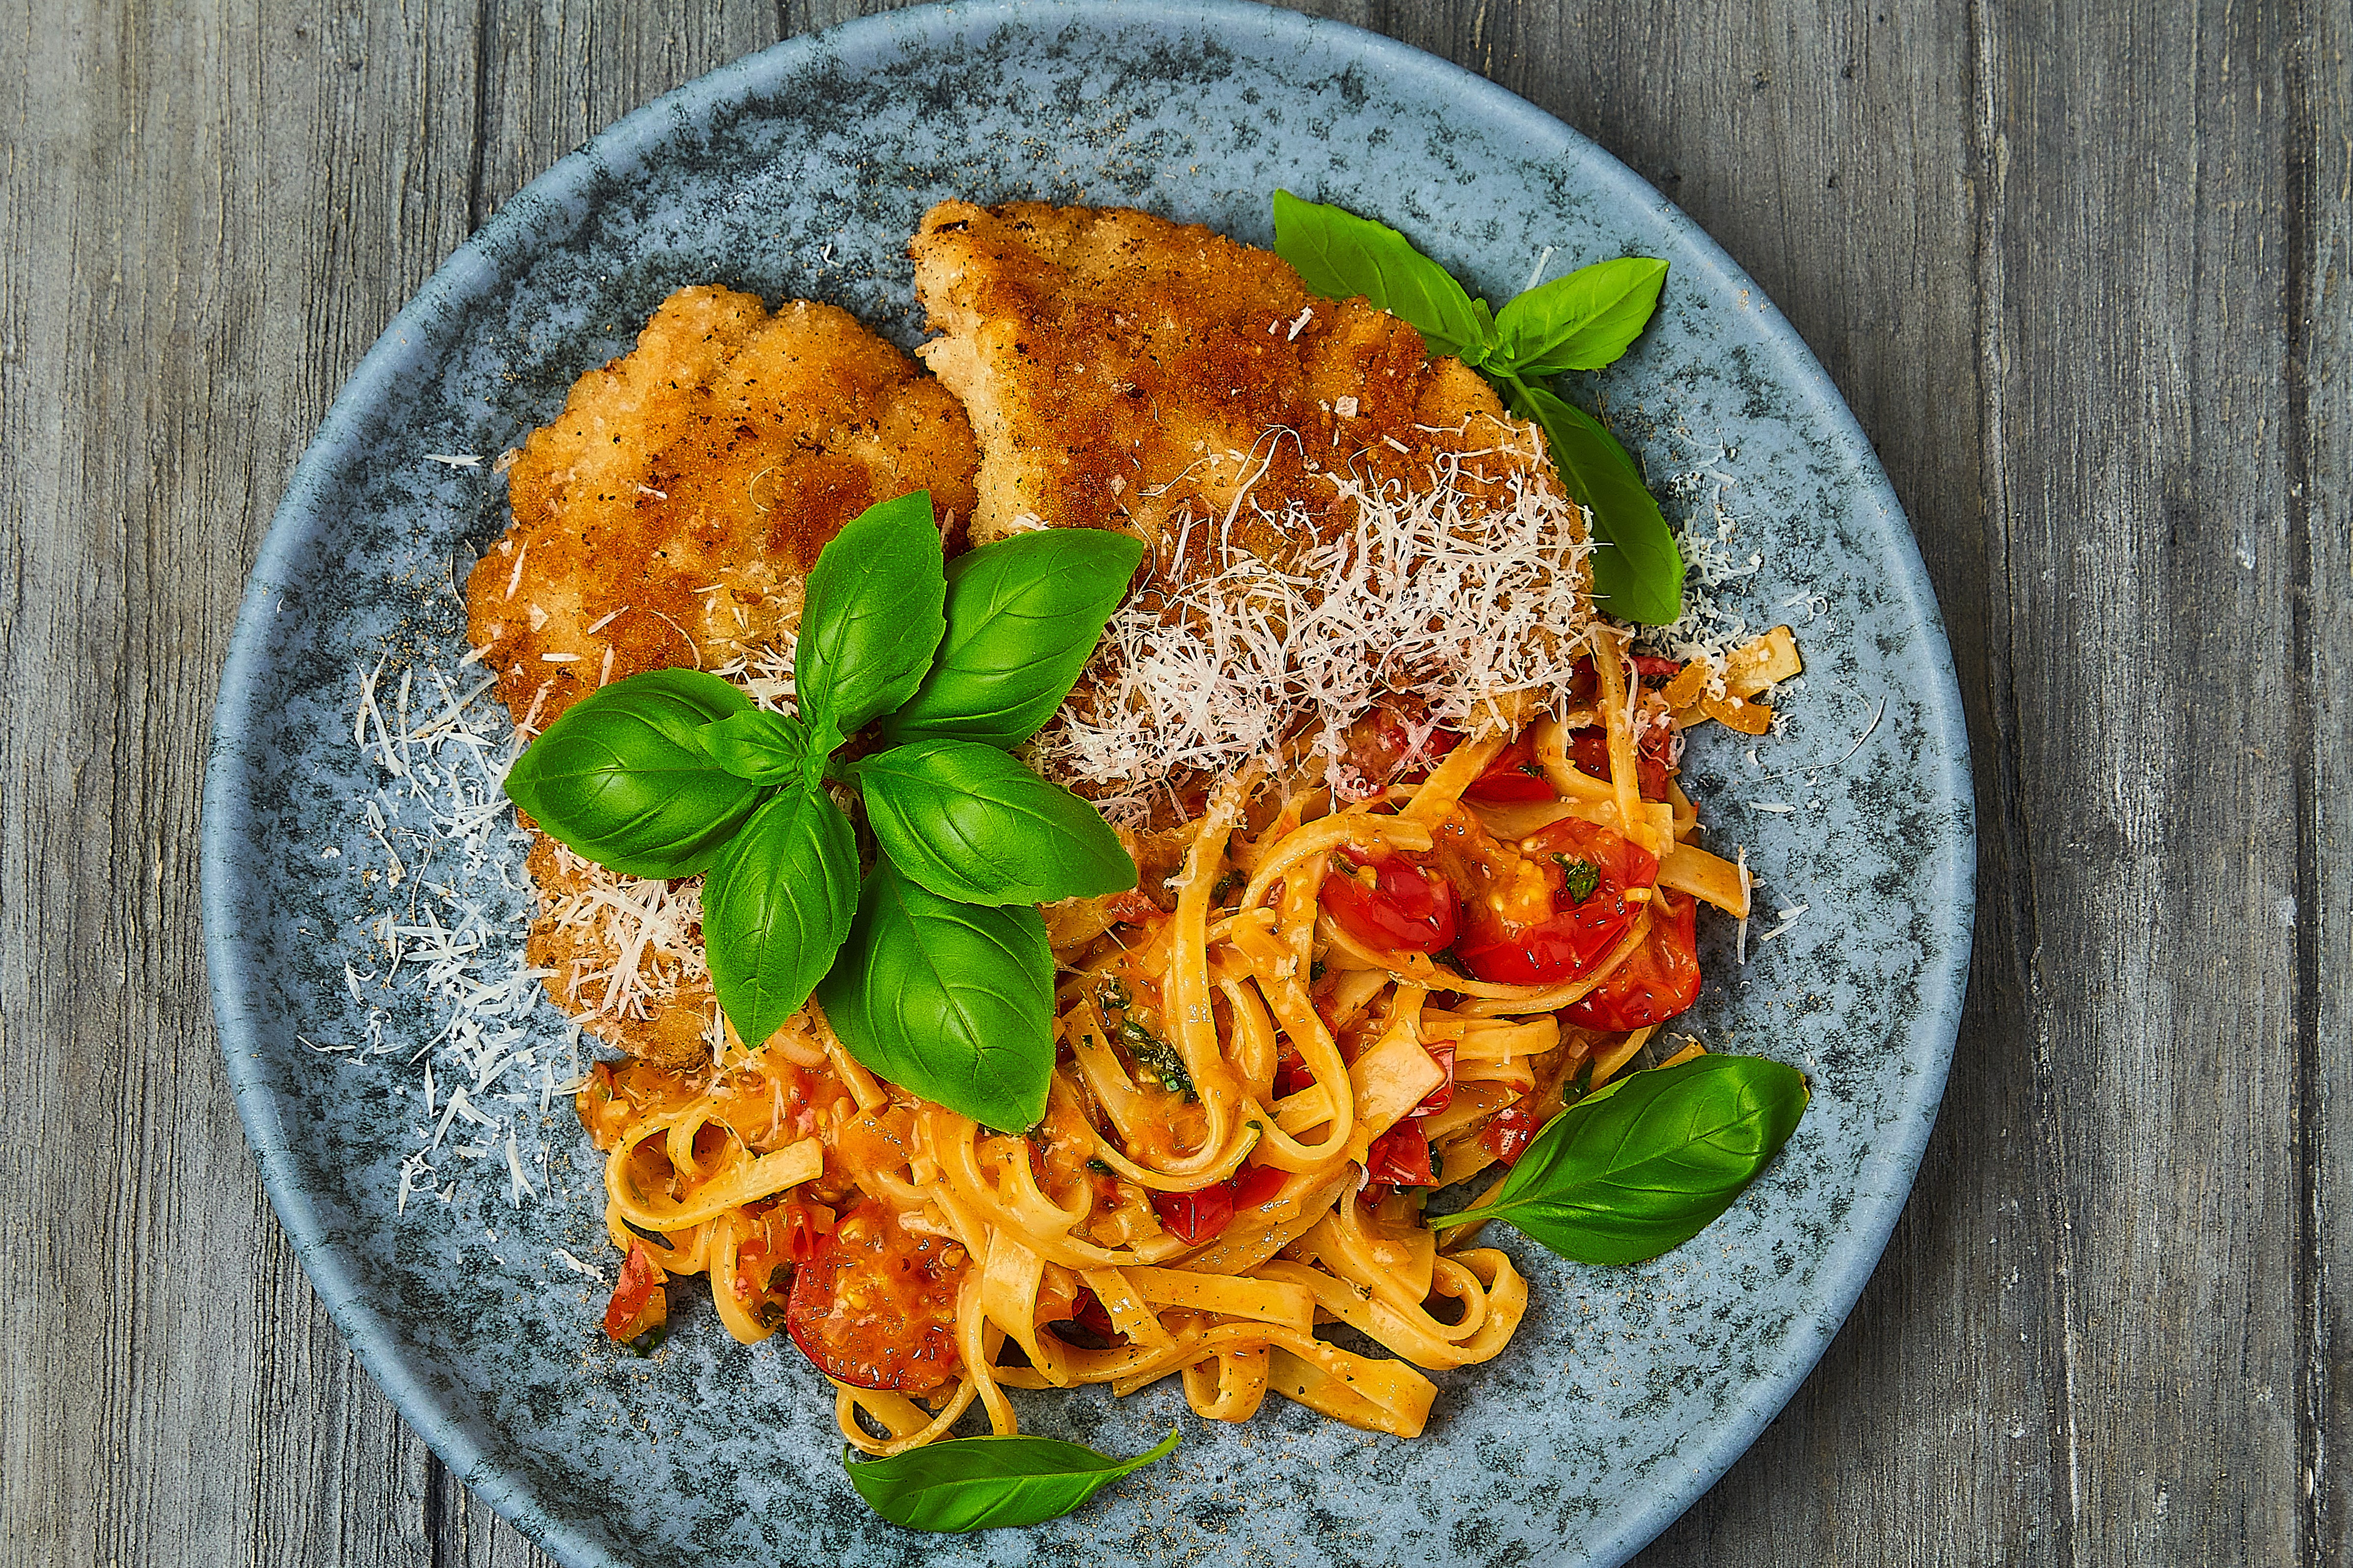
[[[774,701],[826,541],[913,489],[960,527],[974,463],[955,397],[845,310],[680,289],[525,440],[515,522],[466,581],[468,635],[525,729],[673,665]],[[699,879],[621,877],[546,835],[527,870],[555,1004],[631,1056],[708,1060]]]

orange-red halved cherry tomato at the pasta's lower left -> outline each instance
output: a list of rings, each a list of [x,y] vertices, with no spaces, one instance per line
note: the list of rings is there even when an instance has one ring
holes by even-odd
[[[922,1394],[955,1375],[955,1293],[969,1258],[864,1201],[793,1274],[786,1331],[816,1371],[861,1389]]]

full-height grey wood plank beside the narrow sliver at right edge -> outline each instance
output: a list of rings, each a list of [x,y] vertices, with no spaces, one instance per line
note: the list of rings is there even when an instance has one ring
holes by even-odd
[[[2000,14],[1998,247],[2033,1138],[2066,1561],[2297,1561],[2299,780],[2278,12]],[[2097,125],[2087,89],[2101,94]],[[2026,1041],[2021,1041],[2026,1044]]]

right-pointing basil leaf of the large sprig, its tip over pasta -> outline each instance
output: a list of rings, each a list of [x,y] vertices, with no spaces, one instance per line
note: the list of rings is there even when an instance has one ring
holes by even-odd
[[[1136,863],[1094,806],[993,745],[915,741],[866,757],[856,778],[875,844],[941,898],[1054,903],[1136,886]]]

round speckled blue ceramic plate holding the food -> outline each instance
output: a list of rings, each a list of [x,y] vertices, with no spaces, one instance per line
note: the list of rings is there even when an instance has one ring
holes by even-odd
[[[1026,1396],[1035,1432],[1134,1453],[1184,1425],[1186,1443],[1075,1519],[920,1537],[856,1502],[833,1401],[791,1347],[741,1347],[692,1298],[649,1361],[595,1333],[612,1253],[600,1161],[546,1093],[569,1063],[562,1020],[522,987],[513,1016],[438,1039],[440,987],[518,964],[520,846],[492,830],[428,856],[431,811],[478,771],[461,745],[419,745],[388,773],[353,743],[360,677],[379,672],[395,729],[405,682],[416,729],[440,679],[480,675],[459,668],[452,562],[506,508],[489,463],[464,458],[553,416],[671,289],[835,301],[915,343],[906,237],[941,197],[1134,205],[1266,244],[1278,186],[1405,228],[1489,299],[1546,252],[1548,275],[1673,263],[1645,341],[1574,390],[1609,409],[1671,515],[1729,527],[1732,569],[1755,557],[1722,607],[1798,628],[1788,733],[1755,759],[1701,736],[1687,778],[1713,842],[1758,867],[1751,938],[1805,912],[1746,966],[1715,922],[1689,1032],[1802,1065],[1814,1103],[1732,1213],[1659,1262],[1572,1267],[1513,1234],[1527,1324],[1492,1366],[1440,1373],[1419,1441],[1280,1399],[1219,1427],[1174,1385]],[[254,567],[214,745],[214,1006],[271,1199],[402,1415],[565,1563],[1617,1563],[1748,1446],[1871,1274],[1937,1114],[1969,943],[1969,773],[1937,602],[1871,444],[1781,315],[1659,193],[1511,94],[1369,33],[1209,0],[873,16],[565,158],[329,411]],[[513,1060],[478,1088],[485,1056]],[[414,1154],[435,1133],[428,1171]]]

